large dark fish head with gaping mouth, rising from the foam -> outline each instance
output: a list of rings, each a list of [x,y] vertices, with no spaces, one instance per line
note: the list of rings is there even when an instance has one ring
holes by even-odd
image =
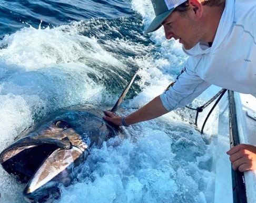
[[[83,105],[60,109],[24,131],[0,154],[0,163],[26,183],[23,195],[29,202],[58,194],[57,186],[73,180],[93,147],[114,137],[118,128],[102,119],[101,111]],[[54,189],[53,189],[54,188]]]

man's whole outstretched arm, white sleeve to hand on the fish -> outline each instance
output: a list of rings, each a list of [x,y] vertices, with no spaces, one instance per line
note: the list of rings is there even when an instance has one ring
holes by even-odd
[[[162,116],[169,111],[184,107],[190,104],[192,100],[199,96],[210,84],[206,83],[196,73],[187,68],[183,68],[181,74],[176,78],[176,82],[166,89],[162,95],[155,97],[151,102],[141,109],[124,118],[126,125],[139,123]],[[111,111],[105,111],[105,120],[121,126],[122,118],[116,116]]]

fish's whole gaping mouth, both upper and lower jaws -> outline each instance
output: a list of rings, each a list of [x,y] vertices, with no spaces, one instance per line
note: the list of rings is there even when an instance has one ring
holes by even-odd
[[[71,179],[67,176],[70,173],[66,170],[72,168],[77,159],[84,158],[86,149],[87,145],[80,135],[68,128],[54,135],[54,138],[38,135],[36,138],[26,136],[17,140],[0,154],[0,163],[9,174],[27,183],[24,197],[37,199],[49,195],[60,182],[59,179],[63,180],[64,185],[69,184],[68,180]],[[56,178],[59,178],[58,181],[54,181]]]

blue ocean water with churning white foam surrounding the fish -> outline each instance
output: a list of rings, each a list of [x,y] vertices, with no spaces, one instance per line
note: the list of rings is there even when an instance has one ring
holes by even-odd
[[[119,111],[132,113],[184,67],[181,45],[166,40],[162,28],[143,35],[154,16],[149,0],[8,0],[0,9],[0,151],[56,109],[113,106],[139,70]],[[211,87],[192,105],[203,105],[218,90]],[[209,108],[199,116],[199,129]],[[194,116],[177,109],[124,128],[124,139],[92,150],[55,202],[232,202],[229,169],[220,167],[228,161],[225,103],[203,135]],[[25,202],[25,185],[2,167],[0,179],[0,202]]]

